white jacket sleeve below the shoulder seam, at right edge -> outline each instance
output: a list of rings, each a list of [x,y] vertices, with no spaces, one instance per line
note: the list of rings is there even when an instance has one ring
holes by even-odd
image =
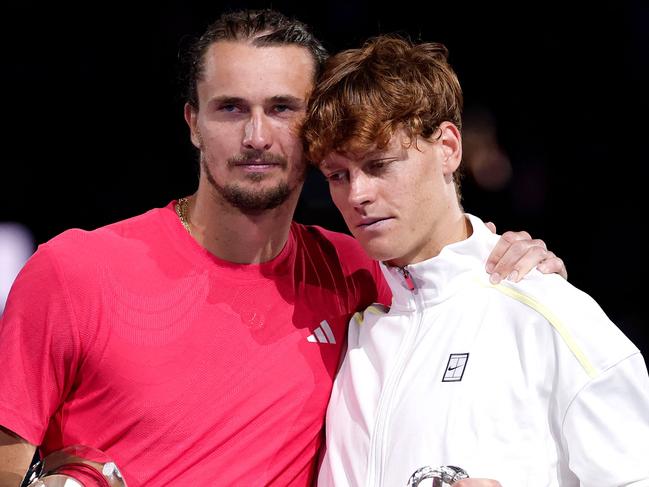
[[[562,443],[584,487],[649,486],[649,376],[640,353],[576,395],[563,421]]]

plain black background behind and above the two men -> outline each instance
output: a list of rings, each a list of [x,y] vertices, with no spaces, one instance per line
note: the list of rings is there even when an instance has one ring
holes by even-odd
[[[448,46],[465,137],[488,122],[511,164],[496,191],[469,175],[465,209],[543,238],[647,356],[649,4],[447,3],[4,2],[0,221],[40,243],[192,193],[177,53],[224,9],[277,8],[332,52],[397,31]],[[316,175],[304,196],[299,221],[344,230]]]

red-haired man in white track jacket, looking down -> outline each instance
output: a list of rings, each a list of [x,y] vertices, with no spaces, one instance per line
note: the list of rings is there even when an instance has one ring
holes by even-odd
[[[309,156],[394,296],[350,323],[318,485],[405,487],[454,466],[471,477],[456,486],[649,486],[638,348],[556,275],[489,281],[497,236],[460,205],[446,58],[375,38],[334,56],[312,97]]]

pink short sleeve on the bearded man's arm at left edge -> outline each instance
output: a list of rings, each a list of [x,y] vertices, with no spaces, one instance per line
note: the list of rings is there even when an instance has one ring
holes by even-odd
[[[70,391],[78,350],[66,287],[41,246],[18,274],[0,321],[0,424],[40,444]]]

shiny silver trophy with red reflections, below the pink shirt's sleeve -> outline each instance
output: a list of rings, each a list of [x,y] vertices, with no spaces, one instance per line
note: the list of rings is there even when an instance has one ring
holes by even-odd
[[[28,487],[127,487],[122,473],[101,450],[74,445],[50,453],[27,472]]]

